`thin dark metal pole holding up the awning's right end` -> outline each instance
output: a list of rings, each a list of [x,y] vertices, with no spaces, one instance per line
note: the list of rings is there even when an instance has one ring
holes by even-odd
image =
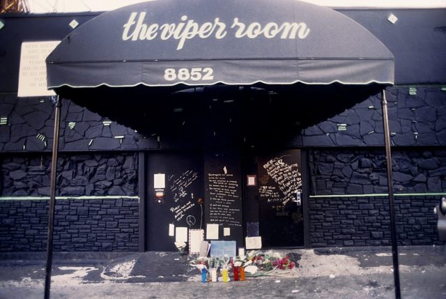
[[[395,298],[401,299],[401,289],[399,288],[397,223],[395,221],[393,178],[392,178],[392,152],[390,150],[389,117],[387,115],[387,100],[385,99],[384,89],[381,93],[381,100],[382,100],[381,105],[383,107],[385,162],[387,164],[387,186],[389,189],[390,234],[392,238],[392,259],[393,259],[393,276],[395,284]]]

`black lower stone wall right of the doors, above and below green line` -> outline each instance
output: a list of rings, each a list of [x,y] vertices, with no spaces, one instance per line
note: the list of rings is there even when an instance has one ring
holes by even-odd
[[[312,247],[390,245],[390,215],[387,197],[385,155],[380,150],[310,153],[311,189],[309,202]],[[392,167],[394,192],[440,193],[446,190],[444,149],[394,149]],[[352,194],[352,197],[336,195]],[[355,197],[355,194],[370,194]],[[400,245],[438,244],[433,207],[439,196],[395,198]]]

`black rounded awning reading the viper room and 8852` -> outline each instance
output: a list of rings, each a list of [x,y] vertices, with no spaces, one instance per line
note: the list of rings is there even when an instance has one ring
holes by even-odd
[[[393,84],[394,57],[341,13],[294,0],[162,0],[110,11],[47,58],[49,89]]]

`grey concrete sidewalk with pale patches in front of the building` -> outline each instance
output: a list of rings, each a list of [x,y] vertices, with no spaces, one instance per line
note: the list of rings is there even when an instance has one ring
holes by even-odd
[[[276,250],[298,268],[201,282],[176,252],[55,253],[52,298],[394,298],[390,247]],[[444,246],[399,247],[403,298],[446,298]],[[45,253],[0,254],[0,298],[43,298]]]

